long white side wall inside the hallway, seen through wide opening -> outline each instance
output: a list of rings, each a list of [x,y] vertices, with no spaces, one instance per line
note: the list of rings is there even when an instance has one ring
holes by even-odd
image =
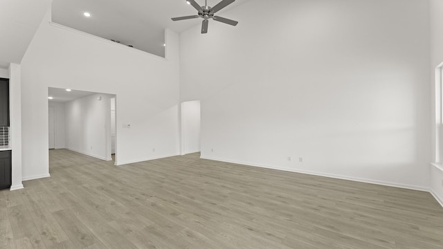
[[[111,98],[114,95],[96,93],[66,102],[66,143],[73,151],[111,160]],[[110,145],[110,143],[109,143]]]

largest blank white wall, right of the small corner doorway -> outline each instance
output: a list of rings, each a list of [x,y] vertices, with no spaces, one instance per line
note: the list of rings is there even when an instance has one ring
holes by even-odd
[[[256,0],[223,13],[236,27],[181,33],[181,101],[201,100],[201,156],[427,190],[428,8]]]

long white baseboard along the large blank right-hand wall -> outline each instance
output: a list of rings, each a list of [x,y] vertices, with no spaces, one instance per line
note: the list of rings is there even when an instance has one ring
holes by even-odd
[[[235,164],[239,164],[239,165],[262,167],[262,168],[266,168],[266,169],[277,169],[277,170],[282,170],[285,172],[309,174],[309,175],[313,175],[313,176],[325,176],[325,177],[337,178],[337,179],[348,180],[348,181],[357,181],[357,182],[361,182],[361,183],[372,183],[372,184],[384,185],[384,186],[389,186],[389,187],[400,187],[400,188],[404,188],[404,189],[408,189],[408,190],[419,190],[419,191],[429,192],[428,187],[422,187],[422,186],[416,186],[416,185],[391,183],[391,182],[386,182],[386,181],[378,181],[378,180],[373,180],[373,179],[358,178],[358,177],[352,177],[352,176],[341,176],[341,175],[328,174],[328,173],[323,173],[323,172],[312,172],[312,171],[300,170],[300,169],[286,169],[286,168],[280,168],[280,167],[273,167],[273,166],[269,166],[269,165],[258,165],[255,163],[244,163],[244,162],[236,162],[236,161],[230,161],[230,160],[222,160],[220,158],[211,158],[211,157],[206,157],[206,156],[201,156],[200,158],[207,159],[207,160],[217,160],[217,161],[226,162],[226,163],[235,163]]]

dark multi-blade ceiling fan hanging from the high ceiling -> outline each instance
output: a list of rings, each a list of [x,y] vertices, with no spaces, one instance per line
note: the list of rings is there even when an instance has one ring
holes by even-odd
[[[205,6],[199,6],[198,3],[196,3],[194,0],[186,0],[186,2],[192,7],[194,7],[198,11],[198,15],[192,15],[192,16],[186,16],[186,17],[174,17],[171,18],[172,21],[180,21],[180,20],[186,20],[186,19],[194,19],[194,18],[203,18],[203,23],[201,24],[201,33],[206,34],[208,33],[208,24],[209,19],[214,19],[215,21],[220,21],[224,24],[229,24],[232,26],[236,26],[238,24],[238,21],[234,21],[231,19],[227,19],[224,17],[216,17],[214,14],[221,10],[222,8],[225,8],[226,6],[230,5],[230,3],[235,2],[235,0],[223,0],[219,3],[217,3],[214,7],[208,6],[208,0],[205,0]]]

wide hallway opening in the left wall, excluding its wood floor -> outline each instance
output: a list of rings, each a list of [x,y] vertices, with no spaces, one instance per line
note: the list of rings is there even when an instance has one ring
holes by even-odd
[[[115,162],[115,122],[115,94],[48,88],[49,149]]]

